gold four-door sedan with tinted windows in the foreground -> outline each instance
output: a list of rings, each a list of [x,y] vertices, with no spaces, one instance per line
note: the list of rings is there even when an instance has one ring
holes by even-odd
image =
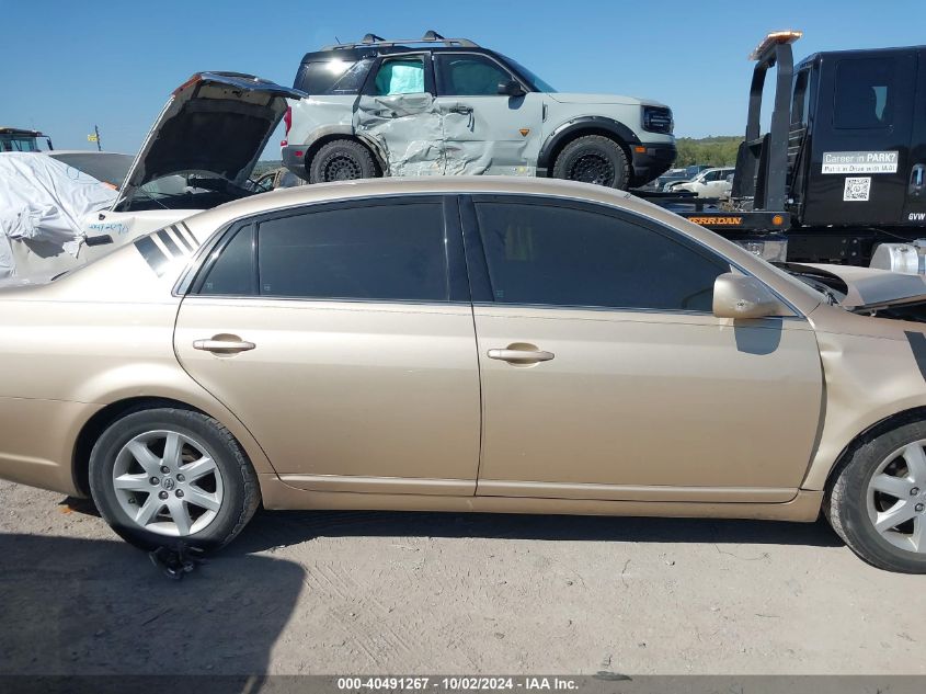
[[[261,504],[822,508],[924,572],[923,326],[818,271],[560,181],[252,196],[0,289],[0,476],[144,547],[220,546]]]

